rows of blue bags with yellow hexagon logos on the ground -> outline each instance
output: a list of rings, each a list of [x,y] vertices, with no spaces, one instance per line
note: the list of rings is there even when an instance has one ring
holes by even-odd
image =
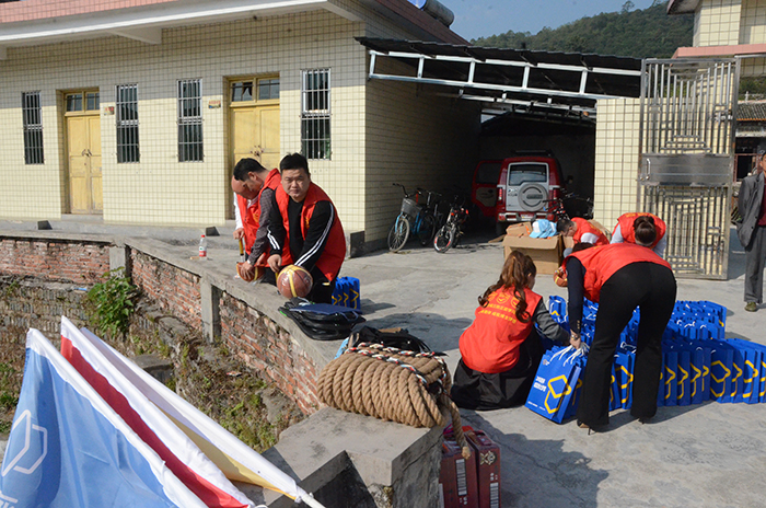
[[[567,302],[560,297],[550,297],[549,310],[554,320],[569,330]],[[581,336],[590,345],[593,340],[597,303],[585,302]],[[706,401],[719,403],[756,404],[766,402],[766,346],[748,340],[726,337],[727,309],[709,301],[677,301],[668,327],[662,336],[662,378],[658,393],[658,405],[685,406]],[[610,409],[631,406],[632,374],[638,334],[639,310],[620,335],[620,345],[615,354],[612,372],[612,397]],[[556,351],[556,349],[552,349]],[[550,357],[554,353],[548,353]],[[584,368],[585,359],[578,359]],[[562,363],[562,362],[561,362]],[[569,363],[567,365],[569,367]],[[541,365],[541,369],[550,366]],[[560,366],[557,367],[560,377]],[[566,369],[567,372],[571,368]],[[538,371],[539,372],[539,371]],[[541,380],[544,378],[541,377]],[[577,390],[581,381],[576,380],[574,393],[562,408],[567,418],[574,413]],[[555,388],[555,386],[554,386]],[[561,390],[558,390],[561,391]],[[548,399],[558,393],[547,389]],[[566,390],[561,391],[562,393]],[[533,389],[530,397],[539,397]],[[532,404],[534,405],[534,403]],[[550,404],[548,404],[550,405]],[[527,407],[536,411],[527,401]],[[537,411],[541,413],[539,411]],[[543,414],[543,413],[541,413]],[[556,420],[555,417],[549,419]],[[561,418],[558,418],[560,422]]]

